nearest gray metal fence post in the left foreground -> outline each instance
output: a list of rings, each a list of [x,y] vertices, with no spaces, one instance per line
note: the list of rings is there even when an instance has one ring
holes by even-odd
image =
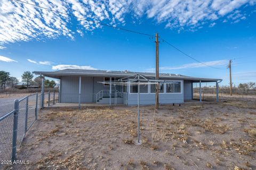
[[[12,162],[16,159],[17,131],[18,131],[19,100],[14,100],[13,135],[12,135]]]

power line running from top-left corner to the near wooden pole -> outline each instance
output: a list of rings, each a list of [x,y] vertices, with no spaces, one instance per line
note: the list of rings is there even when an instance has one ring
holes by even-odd
[[[106,24],[106,23],[101,23],[101,22],[97,22],[97,21],[93,21],[93,20],[81,18],[81,17],[75,16],[75,15],[71,15],[71,14],[68,14],[68,13],[55,11],[55,10],[52,10],[52,9],[50,9],[50,8],[43,7],[43,6],[39,6],[39,5],[36,5],[36,4],[31,4],[31,3],[24,2],[24,1],[20,1],[20,0],[13,0],[13,1],[18,1],[18,2],[21,2],[21,3],[28,4],[28,5],[32,5],[32,6],[36,6],[36,7],[39,7],[39,8],[43,8],[43,9],[48,10],[48,11],[60,13],[60,14],[63,14],[63,15],[72,16],[72,17],[74,17],[74,18],[78,18],[78,19],[81,19],[81,20],[85,20],[85,21],[89,21],[89,22],[93,22],[93,23],[97,23],[97,24],[101,24],[101,25],[104,25],[104,26],[107,26],[107,27],[111,27],[111,28],[114,28],[114,29],[119,29],[119,30],[123,30],[123,31],[127,31],[127,32],[137,33],[137,34],[139,34],[139,35],[154,37],[153,35],[150,35],[150,34],[148,34],[148,33],[143,33],[143,32],[139,32],[139,31],[133,31],[133,30],[129,30],[129,29],[121,28],[121,27],[115,27],[115,26],[113,26],[113,25],[109,25],[109,24]]]

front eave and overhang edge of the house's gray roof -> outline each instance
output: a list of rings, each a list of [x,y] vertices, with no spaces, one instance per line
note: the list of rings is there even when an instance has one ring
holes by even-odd
[[[43,75],[45,77],[54,78],[54,79],[60,79],[63,76],[82,76],[82,77],[117,77],[117,78],[123,78],[127,76],[133,76],[134,74],[115,74],[115,73],[79,73],[79,72],[56,72],[56,71],[34,71],[33,72],[36,75]],[[148,76],[150,78],[155,78],[155,76]],[[209,79],[209,78],[195,78],[195,77],[183,77],[183,76],[160,76],[160,79],[178,79],[178,80],[189,80],[193,82],[217,82],[222,81],[222,79]]]

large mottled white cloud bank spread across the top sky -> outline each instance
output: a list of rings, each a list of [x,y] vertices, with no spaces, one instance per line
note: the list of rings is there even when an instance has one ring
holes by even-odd
[[[124,25],[127,15],[132,15],[132,22],[138,23],[145,16],[166,28],[179,31],[185,27],[195,31],[205,23],[232,15],[238,17],[235,22],[246,19],[245,14],[236,11],[245,5],[255,5],[255,0],[35,0],[28,3],[51,8],[62,13],[73,14],[79,18],[112,25]],[[37,8],[17,1],[0,1],[0,49],[7,43],[16,41],[40,40],[66,36],[74,39],[75,32],[83,36],[81,30],[94,30],[102,26],[91,21],[77,19],[78,27],[70,24],[71,17]],[[250,11],[247,11],[250,12]],[[239,16],[241,15],[241,16]],[[74,20],[72,18],[72,20]],[[225,20],[226,21],[226,20]],[[156,24],[158,24],[156,23]]]

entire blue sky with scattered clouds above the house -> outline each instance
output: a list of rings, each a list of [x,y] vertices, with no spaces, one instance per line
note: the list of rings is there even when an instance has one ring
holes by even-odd
[[[26,1],[82,18],[159,36],[213,69],[159,44],[161,72],[256,81],[256,1]],[[66,68],[154,72],[154,38],[25,5],[0,2],[0,70]]]

